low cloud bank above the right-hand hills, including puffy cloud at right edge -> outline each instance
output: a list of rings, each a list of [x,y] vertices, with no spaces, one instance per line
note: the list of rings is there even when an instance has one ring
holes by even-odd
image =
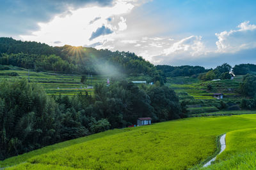
[[[154,64],[173,66],[199,64],[209,67],[224,62],[233,66],[247,62],[255,63],[256,25],[242,22],[237,28],[216,33],[218,41],[214,50],[205,46],[201,36],[189,36],[180,40],[173,39],[174,43],[170,47],[164,48],[163,53],[152,56],[151,59]]]

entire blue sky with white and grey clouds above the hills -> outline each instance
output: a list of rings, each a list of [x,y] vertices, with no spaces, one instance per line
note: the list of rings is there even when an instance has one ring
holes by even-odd
[[[0,37],[134,52],[153,64],[256,64],[255,0],[0,0]]]

